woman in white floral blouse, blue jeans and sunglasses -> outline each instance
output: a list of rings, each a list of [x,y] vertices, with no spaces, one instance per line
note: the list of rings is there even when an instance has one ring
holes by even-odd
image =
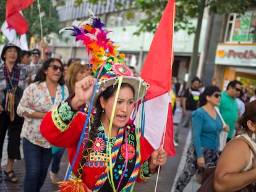
[[[45,114],[69,96],[62,72],[59,59],[47,59],[36,74],[35,82],[24,90],[17,107],[17,114],[25,118],[20,134],[25,161],[25,192],[40,191],[51,163],[51,144],[43,138],[39,127]]]

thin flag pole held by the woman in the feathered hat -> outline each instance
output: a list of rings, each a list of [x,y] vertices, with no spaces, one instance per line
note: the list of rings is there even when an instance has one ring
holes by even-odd
[[[175,7],[175,1],[173,1],[173,7]],[[173,31],[174,31],[174,18],[175,18],[175,9],[173,8]],[[173,41],[171,42],[171,67],[170,67],[170,70],[172,71],[173,69],[173,61],[174,61],[174,51],[173,51]],[[171,75],[172,76],[172,75]],[[161,144],[161,149],[163,149],[163,146],[164,146],[164,141],[165,141],[165,136],[166,136],[166,124],[167,124],[167,120],[168,120],[168,113],[169,113],[169,101],[170,101],[170,98],[171,98],[171,86],[169,88],[169,93],[168,93],[168,111],[166,113],[166,123],[165,123],[165,126],[164,126],[164,133],[163,133],[163,143]],[[156,188],[157,188],[157,185],[158,185],[158,178],[159,178],[159,175],[160,175],[160,167],[158,168],[158,172],[157,172],[157,176],[156,176],[156,185],[155,185],[155,192],[156,192]]]

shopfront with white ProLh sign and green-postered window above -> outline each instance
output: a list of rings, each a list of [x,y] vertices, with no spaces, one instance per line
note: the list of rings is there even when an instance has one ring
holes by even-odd
[[[256,10],[223,17],[222,36],[216,45],[215,75],[222,90],[239,80],[253,94],[256,88]]]

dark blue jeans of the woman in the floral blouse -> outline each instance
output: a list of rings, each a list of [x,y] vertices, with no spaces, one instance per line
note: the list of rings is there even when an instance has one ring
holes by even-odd
[[[23,138],[23,154],[25,161],[24,192],[39,192],[45,182],[48,167],[53,157],[51,148],[42,148]]]

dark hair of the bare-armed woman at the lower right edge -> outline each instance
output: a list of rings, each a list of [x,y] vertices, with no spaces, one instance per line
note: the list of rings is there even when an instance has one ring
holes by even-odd
[[[249,127],[247,126],[247,121],[251,120],[253,123],[256,123],[256,100],[251,101],[245,104],[245,111],[242,114],[241,118],[237,120],[239,125],[239,130],[248,131]]]

